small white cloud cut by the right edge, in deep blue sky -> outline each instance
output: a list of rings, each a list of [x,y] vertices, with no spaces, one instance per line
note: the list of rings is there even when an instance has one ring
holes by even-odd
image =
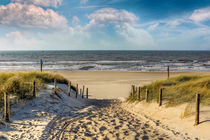
[[[195,10],[190,19],[195,22],[210,20],[210,7]]]

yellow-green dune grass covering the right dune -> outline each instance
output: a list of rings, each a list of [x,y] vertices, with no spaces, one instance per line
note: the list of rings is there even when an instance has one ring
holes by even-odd
[[[193,103],[197,93],[201,94],[201,104],[210,105],[210,75],[180,75],[155,81],[141,87],[140,100],[136,91],[134,96],[130,94],[127,101],[145,100],[146,89],[149,90],[148,102],[158,101],[160,88],[163,88],[163,102],[166,106]]]

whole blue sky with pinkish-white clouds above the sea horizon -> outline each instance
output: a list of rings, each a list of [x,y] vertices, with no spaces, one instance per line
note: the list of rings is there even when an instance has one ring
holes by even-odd
[[[0,0],[0,50],[210,50],[210,1]]]

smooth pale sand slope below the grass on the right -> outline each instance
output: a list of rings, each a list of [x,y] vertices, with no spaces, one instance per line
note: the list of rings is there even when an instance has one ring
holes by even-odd
[[[150,122],[152,126],[167,130],[179,136],[180,139],[210,139],[210,107],[201,106],[201,123],[198,126],[194,126],[195,107],[193,107],[192,114],[182,117],[187,105],[188,104],[182,104],[176,107],[159,107],[156,102],[146,103],[142,101],[132,104],[124,103],[122,106],[125,110],[135,114],[137,118],[144,118],[145,121]]]

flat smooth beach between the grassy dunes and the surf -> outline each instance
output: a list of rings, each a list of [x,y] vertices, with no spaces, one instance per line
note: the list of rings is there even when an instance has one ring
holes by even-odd
[[[56,71],[79,88],[89,88],[90,98],[116,99],[127,98],[131,85],[143,86],[156,80],[167,79],[167,72],[135,71]],[[210,74],[210,72],[171,72],[170,76],[183,74]]]

